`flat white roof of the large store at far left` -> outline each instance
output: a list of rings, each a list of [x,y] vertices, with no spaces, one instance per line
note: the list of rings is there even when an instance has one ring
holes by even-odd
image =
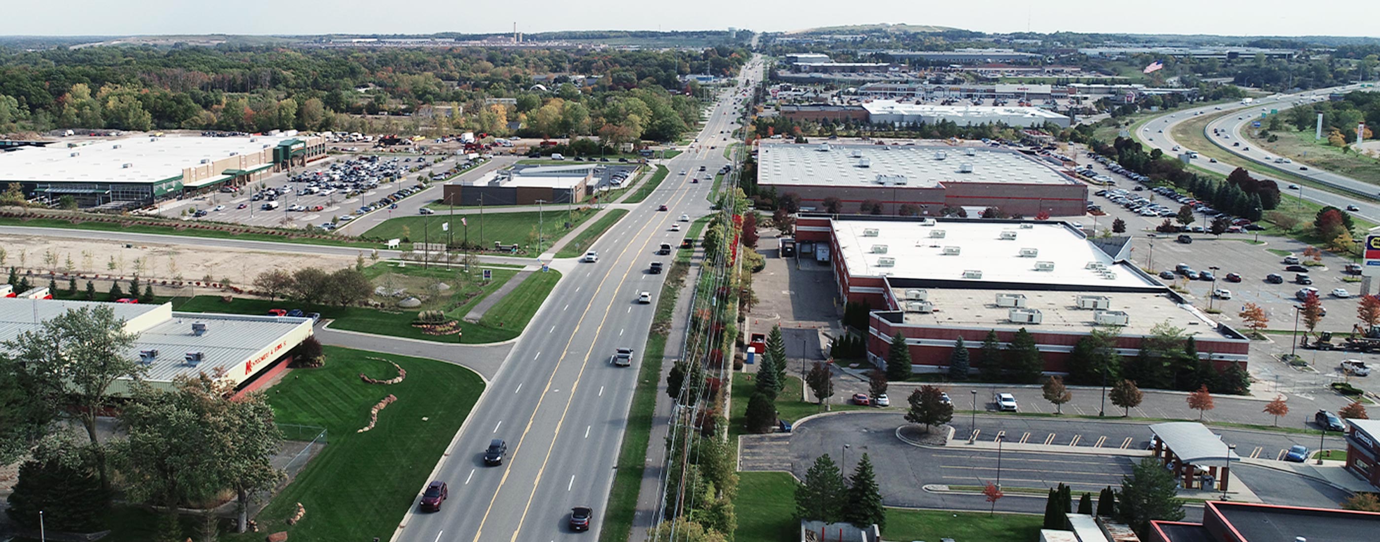
[[[46,148],[22,146],[0,153],[0,181],[159,182],[181,177],[182,170],[200,165],[201,160],[215,161],[230,157],[232,153],[255,153],[287,139],[301,138],[144,135],[102,139],[75,148],[68,148],[62,142]]]

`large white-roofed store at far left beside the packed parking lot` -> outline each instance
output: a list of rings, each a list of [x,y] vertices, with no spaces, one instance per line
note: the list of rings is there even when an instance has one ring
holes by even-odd
[[[0,183],[30,199],[73,196],[79,205],[138,207],[221,186],[258,182],[326,157],[326,139],[297,135],[141,135],[19,146],[0,153]]]

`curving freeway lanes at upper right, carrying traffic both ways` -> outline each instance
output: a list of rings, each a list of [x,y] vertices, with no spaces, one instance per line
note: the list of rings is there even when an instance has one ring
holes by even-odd
[[[1208,137],[1208,139],[1213,141],[1213,143],[1217,143],[1219,146],[1221,146],[1221,148],[1224,148],[1227,150],[1232,150],[1230,142],[1227,145],[1221,145],[1221,141],[1223,141],[1221,138],[1216,138],[1214,139],[1212,137],[1212,128],[1213,127],[1221,128],[1224,126],[1220,124],[1220,123],[1224,123],[1224,121],[1228,121],[1228,120],[1232,121],[1232,123],[1235,123],[1236,117],[1242,117],[1241,123],[1245,123],[1245,121],[1248,121],[1250,119],[1250,116],[1248,116],[1246,113],[1256,114],[1256,113],[1260,112],[1260,108],[1267,108],[1267,109],[1288,109],[1289,106],[1293,106],[1293,103],[1296,101],[1299,101],[1299,99],[1308,99],[1311,95],[1326,95],[1329,92],[1348,91],[1348,90],[1355,90],[1355,88],[1361,88],[1361,87],[1357,86],[1357,84],[1350,84],[1350,86],[1333,87],[1333,88],[1319,88],[1319,90],[1312,90],[1312,91],[1300,92],[1300,94],[1275,95],[1275,97],[1263,98],[1263,99],[1259,99],[1259,101],[1254,101],[1254,102],[1246,103],[1246,105],[1234,103],[1234,105],[1220,105],[1220,106],[1199,106],[1199,108],[1179,110],[1179,112],[1174,112],[1174,113],[1169,113],[1169,114],[1152,119],[1151,121],[1145,123],[1143,126],[1143,128],[1140,130],[1140,132],[1136,134],[1136,137],[1137,137],[1137,139],[1140,139],[1148,148],[1158,148],[1165,154],[1177,156],[1179,152],[1174,152],[1173,148],[1174,146],[1183,146],[1183,143],[1174,141],[1173,135],[1170,134],[1172,128],[1176,124],[1179,124],[1179,123],[1183,123],[1183,121],[1187,121],[1187,120],[1192,120],[1195,117],[1195,113],[1212,114],[1212,113],[1217,113],[1216,108],[1221,108],[1221,110],[1241,112],[1241,114],[1227,114],[1227,116],[1223,117],[1223,120],[1217,120],[1217,121],[1209,123],[1209,126],[1206,127],[1206,134],[1205,135]],[[1232,137],[1234,137],[1232,141],[1241,141],[1239,134],[1235,134]],[[1192,150],[1202,152],[1205,149],[1192,149]],[[1256,154],[1260,154],[1260,153],[1256,152]],[[1250,157],[1249,153],[1245,157]],[[1210,163],[1206,157],[1195,159],[1195,160],[1192,160],[1192,163],[1194,163],[1194,165],[1198,165],[1198,167],[1202,167],[1205,170],[1210,170],[1210,171],[1214,171],[1214,172],[1220,172],[1223,175],[1227,175],[1232,170],[1236,168],[1235,165],[1231,165],[1231,164]],[[1333,185],[1334,181],[1340,182],[1337,179],[1344,179],[1341,175],[1322,172],[1322,171],[1318,171],[1318,170],[1292,171],[1292,172],[1293,174],[1299,174],[1300,177],[1307,177],[1307,178],[1310,178],[1312,181],[1317,181],[1317,182],[1325,183],[1325,185]],[[1261,171],[1260,168],[1256,168],[1256,171],[1254,171],[1256,177],[1264,177],[1264,178],[1275,177],[1275,175],[1271,175],[1271,174],[1272,174],[1272,170],[1264,170],[1264,171]],[[1355,182],[1355,183],[1359,182],[1359,181],[1354,181],[1354,179],[1348,179],[1348,181]],[[1362,218],[1365,218],[1368,221],[1376,221],[1377,218],[1380,218],[1380,204],[1373,203],[1373,200],[1370,200],[1370,199],[1359,199],[1359,197],[1343,196],[1343,194],[1336,194],[1336,193],[1322,192],[1322,190],[1289,190],[1289,189],[1285,188],[1285,186],[1288,186],[1288,183],[1282,183],[1282,185],[1283,185],[1283,186],[1281,186],[1282,192],[1293,193],[1293,196],[1303,197],[1303,199],[1305,199],[1308,201],[1314,201],[1314,203],[1318,203],[1318,204],[1322,204],[1322,205],[1334,205],[1334,207],[1340,207],[1340,208],[1346,208],[1347,205],[1358,205],[1361,208],[1361,211],[1357,212],[1359,217],[1362,217]],[[1361,185],[1365,185],[1365,183],[1361,183]],[[1344,183],[1337,183],[1336,186],[1340,188],[1340,189],[1343,189],[1343,190],[1352,190],[1352,192],[1357,189],[1357,186],[1354,186],[1354,185],[1344,185]],[[1369,185],[1366,185],[1366,186],[1369,186]],[[1373,192],[1374,190],[1370,189],[1370,190],[1366,190],[1363,193],[1369,194],[1369,193],[1373,193]]]

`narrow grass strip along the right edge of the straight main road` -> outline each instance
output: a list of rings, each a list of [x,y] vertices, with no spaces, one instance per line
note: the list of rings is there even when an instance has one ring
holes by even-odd
[[[599,531],[600,542],[627,541],[632,531],[638,492],[647,463],[647,445],[651,440],[651,418],[657,408],[657,386],[661,382],[667,331],[671,328],[671,319],[675,317],[676,298],[689,270],[687,263],[675,262],[667,270],[667,281],[661,284],[651,332],[647,334],[647,348],[642,354],[642,368],[638,371],[638,388],[632,392],[628,428],[622,436],[618,465],[609,491],[609,509],[604,512],[603,530]]]

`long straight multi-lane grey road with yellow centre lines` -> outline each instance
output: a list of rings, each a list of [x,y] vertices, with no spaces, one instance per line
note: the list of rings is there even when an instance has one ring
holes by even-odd
[[[722,99],[701,141],[729,130],[731,119],[731,101]],[[431,514],[417,513],[414,502],[395,539],[567,539],[573,535],[566,520],[575,505],[592,506],[592,530],[600,528],[656,306],[656,299],[636,303],[636,295],[660,292],[662,276],[646,269],[669,259],[653,254],[657,244],[683,236],[671,232],[671,223],[680,214],[709,212],[711,183],[691,183],[690,177],[700,165],[712,171],[722,163],[722,154],[707,148],[672,159],[672,175],[595,243],[600,259],[566,273],[437,466],[435,477],[450,484],[450,501]],[[679,175],[682,170],[687,174]],[[669,211],[656,211],[661,204]],[[620,346],[638,352],[633,367],[609,363]],[[483,466],[490,439],[508,441],[505,465]]]

